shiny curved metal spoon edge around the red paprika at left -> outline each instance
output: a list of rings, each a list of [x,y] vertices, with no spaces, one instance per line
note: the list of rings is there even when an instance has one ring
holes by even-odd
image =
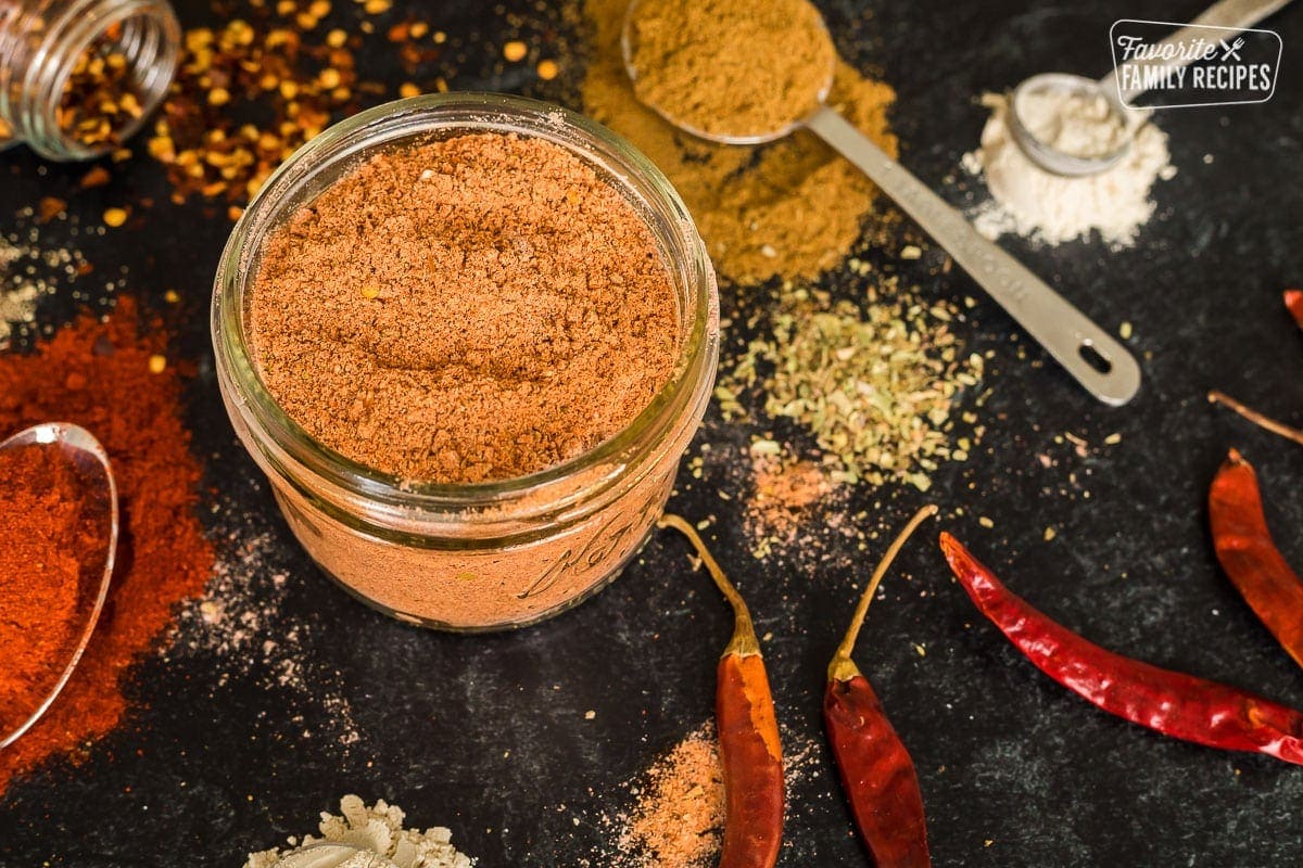
[[[78,480],[78,493],[82,501],[82,515],[87,522],[103,528],[103,552],[96,552],[94,557],[82,563],[81,593],[94,600],[82,625],[77,639],[77,647],[68,664],[63,668],[59,678],[50,686],[50,692],[27,716],[27,718],[9,733],[0,733],[0,748],[5,748],[26,733],[40,720],[42,714],[64,688],[73,670],[81,661],[82,652],[86,651],[90,636],[95,631],[99,613],[104,608],[104,597],[108,595],[108,583],[113,575],[113,554],[117,550],[117,484],[113,481],[113,470],[108,465],[108,454],[95,437],[82,428],[66,422],[47,422],[44,424],[26,428],[0,442],[0,452],[16,449],[18,446],[34,446],[39,449],[57,449],[69,462]],[[91,597],[91,595],[94,595]],[[0,661],[0,665],[4,665]]]

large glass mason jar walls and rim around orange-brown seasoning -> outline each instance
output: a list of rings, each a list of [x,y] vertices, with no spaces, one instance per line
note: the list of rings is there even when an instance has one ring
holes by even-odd
[[[263,241],[360,161],[413,142],[494,131],[568,148],[645,219],[671,277],[674,373],[623,432],[517,479],[412,483],[310,437],[268,393],[249,345],[249,293]],[[326,573],[370,605],[446,630],[515,627],[602,588],[633,557],[705,413],[719,357],[719,299],[705,245],[661,172],[628,142],[559,107],[513,96],[417,96],[313,139],[236,224],[212,298],[218,379],[236,433],[271,480],[291,530]]]

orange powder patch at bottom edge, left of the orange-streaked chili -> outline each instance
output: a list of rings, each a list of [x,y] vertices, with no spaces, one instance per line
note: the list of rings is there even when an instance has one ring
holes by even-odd
[[[620,833],[620,868],[697,868],[719,852],[724,783],[714,733],[702,727],[653,765]]]

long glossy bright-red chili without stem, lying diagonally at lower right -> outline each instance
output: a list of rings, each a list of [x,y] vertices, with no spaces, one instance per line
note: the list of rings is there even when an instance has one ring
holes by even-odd
[[[950,534],[941,535],[941,550],[977,609],[1078,696],[1164,735],[1303,765],[1303,712],[1106,651],[1033,609]]]

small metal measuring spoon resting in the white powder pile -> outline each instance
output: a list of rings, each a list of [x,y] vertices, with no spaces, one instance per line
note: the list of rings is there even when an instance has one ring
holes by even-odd
[[[1177,47],[1181,43],[1204,36],[1210,42],[1217,42],[1218,33],[1208,27],[1252,27],[1259,21],[1286,5],[1290,0],[1222,0],[1209,7],[1201,16],[1170,36],[1154,48],[1165,46]],[[1131,150],[1131,142],[1143,128],[1153,109],[1128,108],[1136,96],[1145,92],[1144,87],[1122,88],[1118,78],[1122,68],[1147,68],[1170,72],[1187,66],[1191,59],[1174,57],[1171,60],[1132,60],[1122,64],[1100,81],[1091,81],[1084,75],[1071,73],[1042,73],[1032,75],[1014,88],[1009,100],[1009,131],[1023,151],[1036,165],[1046,172],[1066,177],[1083,177],[1097,174],[1114,165]],[[1110,142],[1110,148],[1102,154],[1070,154],[1059,150],[1053,142],[1036,134],[1028,120],[1027,104],[1040,94],[1071,94],[1088,100],[1100,100],[1106,117],[1100,124],[1113,126],[1117,135]]]

